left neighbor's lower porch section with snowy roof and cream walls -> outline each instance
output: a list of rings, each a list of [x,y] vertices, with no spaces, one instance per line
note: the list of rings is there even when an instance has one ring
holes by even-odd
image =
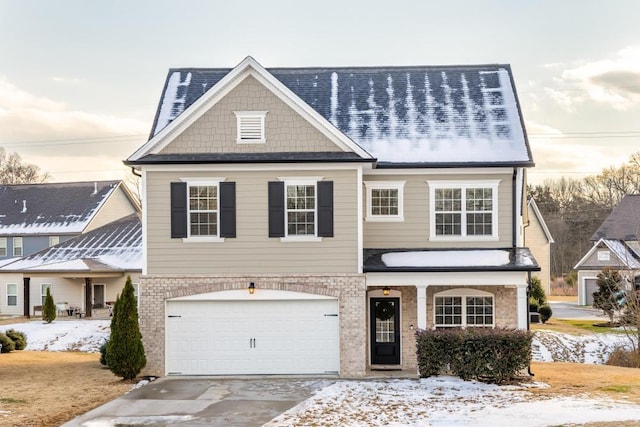
[[[59,309],[91,317],[122,292],[126,277],[138,283],[142,226],[137,213],[0,267],[0,311],[23,314],[42,306],[47,288]],[[64,314],[64,313],[63,313]]]

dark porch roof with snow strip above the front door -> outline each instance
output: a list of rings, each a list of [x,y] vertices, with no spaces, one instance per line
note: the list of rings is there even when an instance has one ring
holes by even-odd
[[[529,248],[365,249],[365,273],[484,273],[540,271]]]

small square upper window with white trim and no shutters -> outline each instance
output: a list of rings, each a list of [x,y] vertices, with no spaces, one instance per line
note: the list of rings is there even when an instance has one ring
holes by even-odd
[[[367,221],[404,220],[405,181],[365,181]]]

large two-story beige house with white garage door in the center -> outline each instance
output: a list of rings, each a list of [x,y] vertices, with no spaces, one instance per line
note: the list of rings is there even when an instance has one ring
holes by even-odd
[[[509,66],[170,70],[125,163],[149,373],[415,370],[418,328],[527,328]]]

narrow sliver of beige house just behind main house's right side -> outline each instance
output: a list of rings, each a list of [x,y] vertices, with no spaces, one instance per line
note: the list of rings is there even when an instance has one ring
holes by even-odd
[[[536,205],[536,201],[530,197],[527,201],[527,222],[524,226],[524,246],[538,261],[540,272],[536,276],[540,278],[542,289],[547,295],[551,294],[551,244],[553,237],[547,224]]]

